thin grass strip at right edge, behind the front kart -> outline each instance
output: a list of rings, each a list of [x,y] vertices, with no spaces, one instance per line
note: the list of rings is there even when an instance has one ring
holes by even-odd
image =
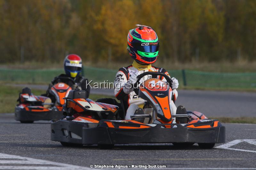
[[[221,123],[256,124],[256,117],[211,117],[210,119],[217,119]]]

